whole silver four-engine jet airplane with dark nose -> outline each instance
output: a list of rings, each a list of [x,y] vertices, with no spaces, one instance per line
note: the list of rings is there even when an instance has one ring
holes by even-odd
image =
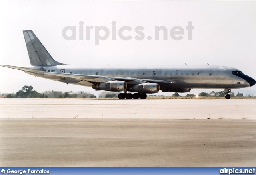
[[[55,61],[32,30],[23,31],[31,66],[0,65],[50,80],[92,87],[94,90],[121,92],[119,99],[146,99],[147,94],[190,92],[193,88],[231,89],[255,85],[255,80],[239,69],[226,66],[162,67],[82,67]],[[134,92],[132,94],[132,92]]]

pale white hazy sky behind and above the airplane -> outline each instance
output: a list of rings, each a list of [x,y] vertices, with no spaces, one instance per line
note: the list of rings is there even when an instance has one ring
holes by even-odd
[[[4,65],[30,65],[22,30],[31,29],[52,57],[61,63],[146,67],[184,65],[185,62],[206,65],[208,62],[235,67],[256,79],[256,1],[2,0],[0,16],[0,64]],[[83,40],[79,40],[80,21],[84,22]],[[114,41],[111,39],[112,21],[116,22],[117,31]],[[188,40],[188,21],[194,26],[192,40]],[[77,40],[62,37],[66,26],[76,26]],[[85,40],[85,26],[94,26],[90,40]],[[106,26],[110,30],[110,37],[99,45],[95,45],[95,26]],[[124,41],[118,37],[122,26],[133,29],[124,32],[132,39]],[[145,28],[145,39],[141,41],[134,39],[137,26]],[[168,29],[167,40],[163,40],[161,32],[159,41],[154,39],[155,26]],[[170,37],[174,26],[184,29],[183,39],[176,41]],[[148,36],[152,40],[148,40]],[[0,72],[0,93],[16,93],[24,85],[32,85],[38,92],[95,92],[90,87],[66,85],[5,67],[0,67]],[[244,90],[255,95],[256,86]]]

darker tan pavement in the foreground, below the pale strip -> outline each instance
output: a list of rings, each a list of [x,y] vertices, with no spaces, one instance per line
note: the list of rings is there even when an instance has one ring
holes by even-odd
[[[1,119],[0,166],[256,164],[256,120]]]

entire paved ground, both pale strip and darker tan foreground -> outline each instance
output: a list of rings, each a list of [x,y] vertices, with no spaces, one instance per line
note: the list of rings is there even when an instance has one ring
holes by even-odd
[[[2,167],[256,165],[255,100],[1,99],[0,106]]]

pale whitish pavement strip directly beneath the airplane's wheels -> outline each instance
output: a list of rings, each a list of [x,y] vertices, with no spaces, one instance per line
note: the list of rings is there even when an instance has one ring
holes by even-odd
[[[0,118],[256,119],[256,100],[0,99]]]

